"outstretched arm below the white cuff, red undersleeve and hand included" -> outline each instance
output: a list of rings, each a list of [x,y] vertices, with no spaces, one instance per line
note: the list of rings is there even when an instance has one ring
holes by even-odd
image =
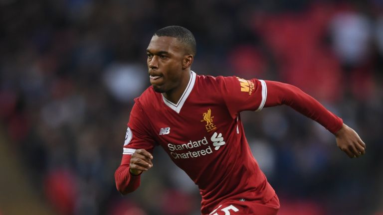
[[[350,158],[359,157],[366,152],[366,144],[354,129],[322,106],[317,100],[299,88],[274,81],[265,81],[267,98],[264,107],[288,105],[305,116],[317,121],[336,136],[338,147]]]

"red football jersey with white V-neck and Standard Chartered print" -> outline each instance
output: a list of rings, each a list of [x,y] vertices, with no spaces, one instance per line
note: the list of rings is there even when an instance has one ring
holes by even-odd
[[[266,96],[262,80],[194,72],[177,104],[149,87],[135,99],[122,163],[135,149],[160,145],[198,186],[203,214],[225,199],[266,202],[275,191],[251,154],[239,114],[261,110]]]

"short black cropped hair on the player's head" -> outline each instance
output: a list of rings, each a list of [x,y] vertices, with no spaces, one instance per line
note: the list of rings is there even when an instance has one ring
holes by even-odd
[[[193,56],[196,54],[197,48],[194,35],[190,30],[182,26],[172,25],[161,28],[154,33],[154,36],[176,37],[181,43],[188,47]]]

